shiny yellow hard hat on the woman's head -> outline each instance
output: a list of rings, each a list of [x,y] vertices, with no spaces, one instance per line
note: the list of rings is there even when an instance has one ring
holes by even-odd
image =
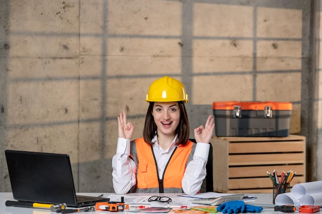
[[[182,82],[169,76],[154,81],[149,88],[146,102],[178,102],[189,101],[186,88]]]

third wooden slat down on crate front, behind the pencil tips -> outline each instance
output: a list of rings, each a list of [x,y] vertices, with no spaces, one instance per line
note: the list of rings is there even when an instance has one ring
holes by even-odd
[[[247,178],[247,177],[265,177],[268,176],[266,171],[273,174],[273,169],[276,170],[280,176],[282,171],[293,170],[297,176],[303,176],[306,173],[305,165],[265,165],[265,166],[240,166],[240,167],[229,167],[228,174],[229,178]]]

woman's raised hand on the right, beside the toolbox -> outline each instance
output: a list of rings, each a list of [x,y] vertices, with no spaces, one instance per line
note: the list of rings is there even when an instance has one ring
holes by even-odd
[[[205,127],[201,125],[193,130],[195,141],[198,143],[209,143],[212,137],[213,128],[213,118],[212,115],[209,115]]]

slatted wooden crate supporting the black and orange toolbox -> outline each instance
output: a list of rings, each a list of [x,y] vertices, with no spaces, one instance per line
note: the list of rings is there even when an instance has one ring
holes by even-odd
[[[213,147],[213,188],[218,192],[271,193],[267,171],[293,170],[291,187],[306,182],[306,138],[216,137]]]

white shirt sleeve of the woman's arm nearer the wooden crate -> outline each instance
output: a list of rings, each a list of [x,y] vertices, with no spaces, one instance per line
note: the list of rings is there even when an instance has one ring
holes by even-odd
[[[198,193],[202,181],[205,179],[207,171],[210,145],[208,143],[197,143],[193,154],[193,159],[187,165],[184,177],[182,179],[183,191],[188,195]]]

